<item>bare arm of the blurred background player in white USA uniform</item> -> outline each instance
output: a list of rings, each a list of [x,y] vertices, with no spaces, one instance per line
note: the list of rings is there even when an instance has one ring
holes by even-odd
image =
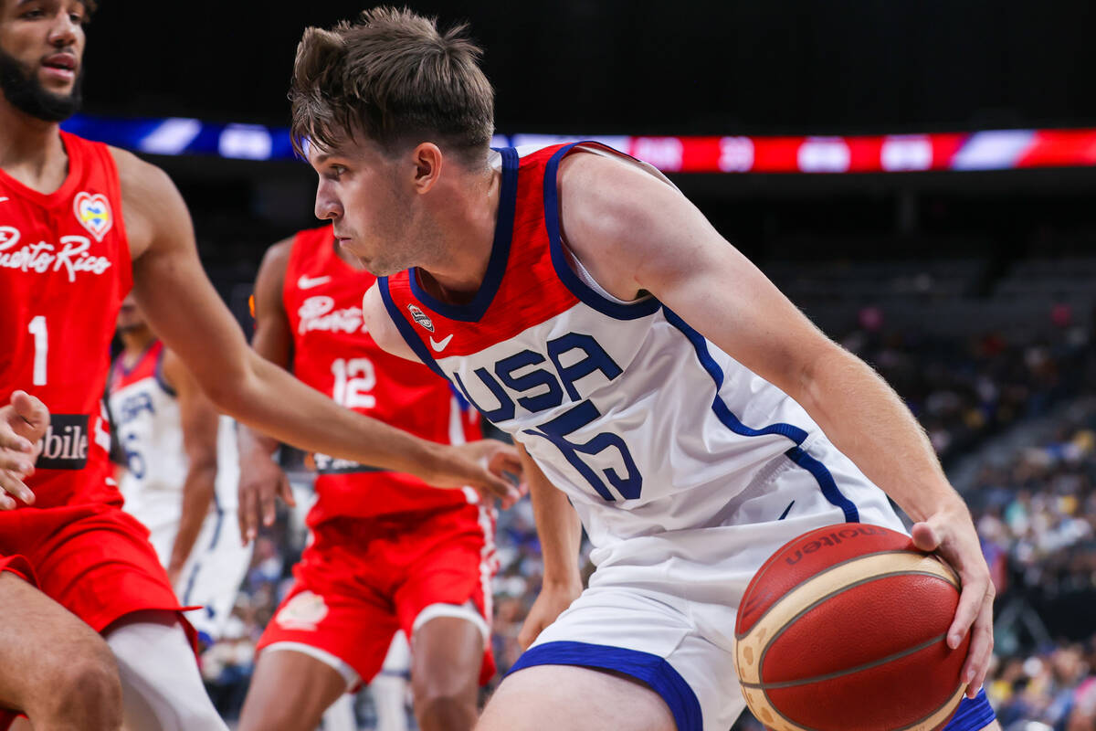
[[[168,576],[174,584],[194,549],[202,524],[214,501],[219,414],[186,366],[171,351],[163,355],[163,377],[175,391],[180,427],[183,431],[183,452],[186,454],[186,479],[183,481],[179,532],[168,560]]]

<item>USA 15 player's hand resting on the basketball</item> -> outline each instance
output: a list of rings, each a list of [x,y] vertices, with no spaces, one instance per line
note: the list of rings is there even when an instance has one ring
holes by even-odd
[[[970,512],[961,502],[949,504],[914,524],[911,535],[917,548],[936,551],[959,572],[962,591],[955,621],[948,628],[947,642],[955,649],[967,632],[971,632],[970,650],[960,677],[968,683],[967,696],[973,698],[985,681],[993,653],[995,589]]]

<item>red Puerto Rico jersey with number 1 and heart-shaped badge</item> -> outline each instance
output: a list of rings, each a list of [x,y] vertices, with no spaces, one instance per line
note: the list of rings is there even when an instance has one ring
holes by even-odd
[[[52,415],[27,482],[35,507],[121,503],[102,397],[133,283],[122,191],[105,145],[60,135],[69,171],[53,193],[0,170],[0,403],[23,389]]]

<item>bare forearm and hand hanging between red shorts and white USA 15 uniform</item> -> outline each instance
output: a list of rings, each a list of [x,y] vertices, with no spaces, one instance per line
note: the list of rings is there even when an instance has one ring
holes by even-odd
[[[517,453],[529,487],[533,517],[545,564],[540,593],[517,636],[518,643],[525,649],[582,593],[578,563],[582,523],[567,495],[548,481],[525,447],[518,445]]]

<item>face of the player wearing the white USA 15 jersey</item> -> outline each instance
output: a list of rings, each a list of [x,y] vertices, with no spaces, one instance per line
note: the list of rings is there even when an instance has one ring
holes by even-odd
[[[332,221],[344,251],[377,276],[424,263],[431,229],[407,160],[361,136],[308,158],[319,174],[316,216]]]

